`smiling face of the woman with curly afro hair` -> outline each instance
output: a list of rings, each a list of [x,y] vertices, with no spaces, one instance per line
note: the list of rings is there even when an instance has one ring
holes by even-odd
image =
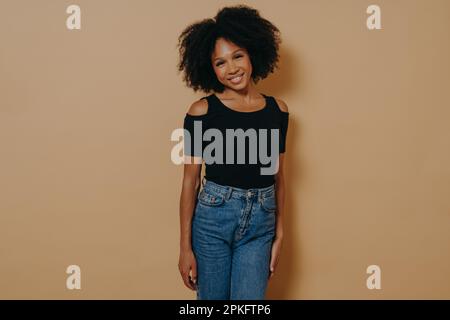
[[[242,90],[250,84],[252,64],[245,48],[218,38],[211,61],[217,79],[225,87]]]

